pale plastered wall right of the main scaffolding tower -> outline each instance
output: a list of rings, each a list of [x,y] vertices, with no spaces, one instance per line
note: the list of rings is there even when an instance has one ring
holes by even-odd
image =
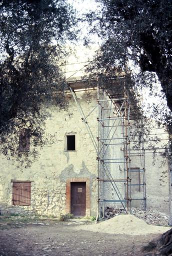
[[[157,125],[152,121],[151,133],[156,133],[160,135],[154,135],[162,139],[155,144],[155,147],[163,148],[164,144],[167,142],[168,135],[165,133],[163,128],[157,128]],[[153,137],[153,136],[152,136]],[[148,139],[148,138],[147,138]],[[163,140],[164,139],[164,140]],[[146,140],[146,138],[145,138]],[[132,147],[132,144],[131,144]],[[169,164],[167,158],[163,157],[158,151],[163,151],[157,149],[157,153],[153,154],[152,149],[147,150],[149,147],[149,142],[145,142],[145,189],[146,189],[146,206],[147,208],[157,209],[168,215],[170,212],[170,185],[169,185]],[[141,156],[131,156],[131,166],[142,168]],[[140,172],[140,183],[142,183],[142,172]],[[132,181],[131,181],[132,182]],[[134,183],[134,181],[133,181]],[[138,186],[137,186],[138,188]],[[132,198],[142,198],[143,197],[143,186],[140,186],[140,191],[133,191]],[[134,207],[141,207],[143,205],[142,200],[135,200],[132,202]]]

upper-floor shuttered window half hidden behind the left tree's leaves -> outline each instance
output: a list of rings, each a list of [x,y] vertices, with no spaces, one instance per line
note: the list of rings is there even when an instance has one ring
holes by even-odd
[[[19,131],[19,151],[25,152],[29,151],[30,147],[30,136],[29,129],[20,129]]]

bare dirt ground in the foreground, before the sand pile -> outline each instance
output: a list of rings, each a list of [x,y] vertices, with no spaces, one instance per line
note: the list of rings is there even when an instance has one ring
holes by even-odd
[[[75,230],[82,223],[27,223],[0,230],[0,256],[142,256],[140,247],[157,234],[126,235]],[[92,223],[87,223],[92,225]]]

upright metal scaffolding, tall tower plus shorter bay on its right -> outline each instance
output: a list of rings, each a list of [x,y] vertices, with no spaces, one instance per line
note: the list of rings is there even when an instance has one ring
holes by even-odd
[[[141,122],[142,133],[137,149],[130,148],[132,141],[133,121],[130,120],[130,102],[125,85],[123,91],[118,95],[113,90],[97,92],[98,102],[98,187],[99,187],[99,211],[104,215],[105,208],[123,206],[126,213],[131,211],[133,200],[141,200],[142,208],[146,209],[146,189],[145,189],[145,150],[143,137],[143,123]],[[133,111],[133,109],[132,109]],[[131,129],[132,124],[132,129]],[[118,134],[121,134],[119,137]],[[120,150],[120,157],[118,156]],[[110,158],[108,157],[110,155]],[[132,166],[139,157],[139,167]],[[117,169],[118,168],[118,169]],[[120,173],[119,173],[120,170]],[[123,170],[123,171],[122,171]],[[139,180],[132,182],[134,173],[138,173]],[[120,176],[120,178],[119,178]],[[122,177],[122,178],[121,178]],[[114,193],[109,190],[105,192],[106,182],[110,182]],[[123,187],[122,187],[123,186]],[[132,196],[132,187],[138,187],[141,192],[139,198]],[[113,196],[112,196],[113,195]],[[110,197],[110,198],[109,198]],[[121,205],[120,205],[120,204]]]

